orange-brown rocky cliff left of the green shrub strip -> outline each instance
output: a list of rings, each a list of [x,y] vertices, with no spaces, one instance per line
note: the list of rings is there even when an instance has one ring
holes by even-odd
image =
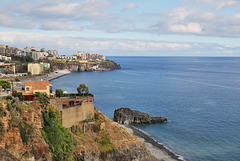
[[[51,160],[50,149],[38,128],[41,127],[39,105],[33,105],[32,108],[23,105],[11,109],[6,102],[0,102],[0,109],[0,147],[19,160]]]

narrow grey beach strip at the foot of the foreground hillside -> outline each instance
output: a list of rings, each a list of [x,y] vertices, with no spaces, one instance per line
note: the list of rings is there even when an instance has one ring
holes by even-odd
[[[139,140],[145,142],[146,148],[151,156],[150,161],[184,161],[181,156],[178,156],[165,146],[159,144],[149,135],[137,129],[136,127],[132,125],[117,124],[125,128],[129,133],[135,135]]]

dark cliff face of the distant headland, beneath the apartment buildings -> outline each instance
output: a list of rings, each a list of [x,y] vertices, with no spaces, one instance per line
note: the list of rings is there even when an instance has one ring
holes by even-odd
[[[94,62],[68,62],[68,61],[50,61],[53,68],[68,69],[72,72],[78,71],[108,71],[120,69],[121,66],[113,61],[106,60],[102,63]]]

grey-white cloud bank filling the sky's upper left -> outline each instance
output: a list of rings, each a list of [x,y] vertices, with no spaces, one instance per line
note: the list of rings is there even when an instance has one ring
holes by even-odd
[[[109,0],[14,1],[0,7],[0,26],[80,31],[85,24],[113,19],[114,14],[106,12],[111,5]]]

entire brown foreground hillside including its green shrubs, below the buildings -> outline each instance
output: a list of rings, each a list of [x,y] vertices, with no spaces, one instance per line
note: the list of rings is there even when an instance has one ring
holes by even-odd
[[[148,160],[145,144],[95,109],[94,119],[66,130],[52,105],[0,102],[1,152],[15,160]],[[3,151],[4,150],[4,151]],[[62,158],[62,159],[59,159]]]

